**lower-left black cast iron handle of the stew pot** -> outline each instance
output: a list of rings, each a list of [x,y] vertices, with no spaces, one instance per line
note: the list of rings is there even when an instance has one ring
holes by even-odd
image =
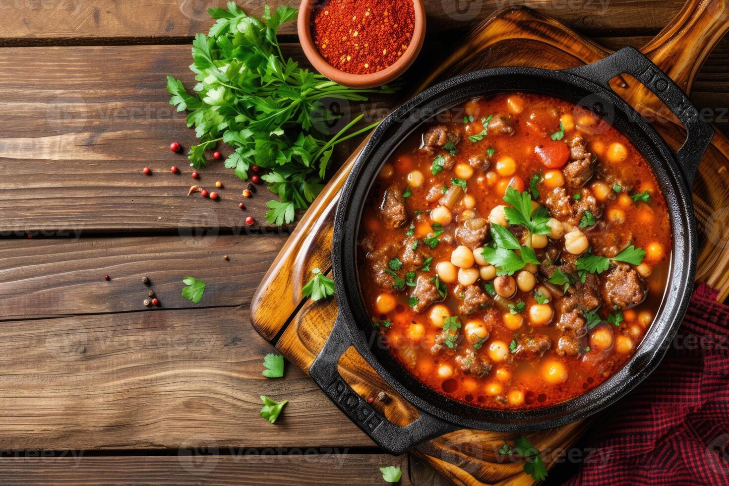
[[[351,344],[349,331],[340,322],[340,317],[337,317],[332,334],[324,344],[319,356],[316,356],[309,369],[309,375],[337,407],[378,446],[390,454],[399,455],[421,442],[460,428],[422,410],[418,410],[420,416],[408,426],[396,426],[389,422],[367,401],[364,401],[339,374],[337,363]]]

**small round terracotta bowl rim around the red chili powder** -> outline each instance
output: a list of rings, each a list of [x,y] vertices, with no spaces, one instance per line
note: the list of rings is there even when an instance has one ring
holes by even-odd
[[[372,74],[351,74],[340,71],[330,63],[327,63],[327,61],[321,57],[319,50],[316,49],[316,45],[314,44],[313,36],[311,34],[311,13],[317,4],[319,4],[319,2],[316,0],[303,0],[301,2],[301,6],[299,7],[299,17],[297,20],[299,41],[301,42],[301,47],[303,47],[306,58],[312,66],[321,74],[324,74],[324,76],[334,82],[338,82],[340,85],[367,88],[391,82],[410,67],[415,58],[418,56],[418,52],[420,52],[421,47],[423,47],[423,41],[425,39],[425,8],[423,7],[422,0],[413,0],[415,7],[415,27],[413,28],[413,39],[410,40],[408,49],[405,50],[402,56],[400,56],[394,64],[384,68],[382,71],[377,71]]]

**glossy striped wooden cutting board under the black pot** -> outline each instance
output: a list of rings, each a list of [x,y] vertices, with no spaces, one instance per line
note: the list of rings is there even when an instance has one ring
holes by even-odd
[[[694,76],[715,44],[729,28],[729,0],[690,0],[681,12],[649,44],[642,48],[687,93]],[[484,20],[448,58],[421,84],[414,94],[435,82],[496,66],[533,66],[561,69],[592,63],[611,52],[566,28],[551,17],[528,8],[510,8]],[[682,128],[666,115],[668,110],[634,79],[623,77],[614,85],[618,94],[639,113],[655,119],[655,128],[677,148],[683,141]],[[363,142],[364,144],[364,142]],[[335,174],[321,195],[305,213],[295,232],[273,262],[254,296],[252,324],[266,340],[292,363],[308,372],[327,340],[337,315],[335,299],[320,302],[301,297],[301,289],[314,267],[331,270],[332,221],[338,192],[351,170],[360,146]],[[729,294],[729,140],[716,133],[703,157],[694,184],[694,204],[701,231],[698,280]],[[339,361],[340,373],[363,397],[385,391],[385,403],[373,407],[397,425],[417,417],[416,409],[399,397],[354,348]],[[539,450],[569,449],[588,426],[587,421],[553,430],[526,434]],[[454,482],[477,484],[531,484],[523,464],[504,460],[499,447],[519,434],[461,430],[421,444],[412,452],[424,458]],[[559,456],[547,454],[547,466]]]

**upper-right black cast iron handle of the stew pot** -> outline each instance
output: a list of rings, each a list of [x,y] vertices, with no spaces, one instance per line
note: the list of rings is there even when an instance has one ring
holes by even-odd
[[[698,162],[709,147],[714,129],[698,116],[698,110],[685,93],[658,66],[634,47],[624,47],[596,63],[566,70],[569,73],[596,82],[612,89],[610,79],[618,74],[627,73],[638,79],[653,94],[666,103],[674,115],[682,122],[687,131],[686,140],[677,152],[679,167],[691,187],[696,175]]]

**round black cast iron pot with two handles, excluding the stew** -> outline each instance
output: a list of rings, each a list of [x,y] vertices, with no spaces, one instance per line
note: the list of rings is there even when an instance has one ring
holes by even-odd
[[[678,117],[687,138],[674,154],[658,133],[609,88],[618,74],[631,74]],[[548,407],[496,410],[450,399],[416,380],[378,340],[362,303],[356,267],[356,242],[364,200],[381,165],[398,144],[434,114],[469,98],[504,91],[531,91],[565,98],[608,119],[652,165],[666,197],[673,228],[668,288],[649,332],[634,356],[615,375],[582,396]],[[340,196],[335,218],[332,264],[339,315],[326,345],[313,362],[311,377],[343,412],[378,445],[399,454],[427,439],[459,428],[488,431],[534,431],[588,417],[615,403],[658,366],[685,314],[696,266],[696,227],[691,183],[712,128],[666,74],[637,50],[626,47],[596,63],[564,71],[537,68],[491,68],[441,82],[404,103],[378,126],[354,164]],[[354,345],[397,393],[419,410],[402,427],[390,423],[340,377],[337,362]]]

